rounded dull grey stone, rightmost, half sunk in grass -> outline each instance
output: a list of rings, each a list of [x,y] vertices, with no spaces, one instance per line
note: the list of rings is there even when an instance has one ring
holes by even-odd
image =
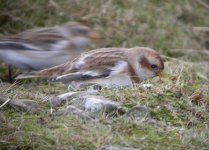
[[[135,106],[125,114],[125,117],[137,123],[141,123],[150,118],[150,111],[145,106]]]

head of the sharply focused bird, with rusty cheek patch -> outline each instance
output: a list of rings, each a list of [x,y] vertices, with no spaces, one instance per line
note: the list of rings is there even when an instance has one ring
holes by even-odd
[[[162,75],[164,63],[157,51],[147,47],[135,47],[130,49],[128,57],[140,81]]]

